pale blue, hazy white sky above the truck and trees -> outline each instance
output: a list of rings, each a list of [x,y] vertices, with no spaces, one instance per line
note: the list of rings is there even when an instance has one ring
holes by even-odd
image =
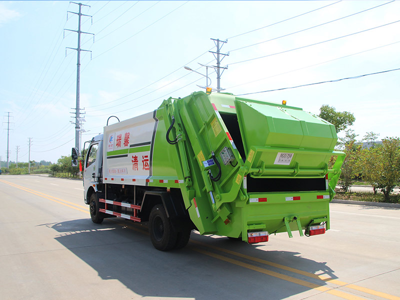
[[[226,41],[224,92],[286,100],[315,114],[328,104],[354,114],[358,139],[370,131],[379,139],[400,136],[398,0],[81,3],[92,16],[82,16],[81,30],[94,33],[94,42],[81,34],[88,50],[80,61],[82,141],[102,132],[110,115],[127,119],[202,90],[196,84],[206,84],[206,70],[198,63],[216,64],[211,38]],[[64,29],[77,30],[71,12],[78,9],[69,1],[0,1],[1,160],[7,132],[10,161],[17,154],[28,161],[29,138],[30,160],[70,155],[77,51],[66,47],[77,47],[77,33]],[[208,75],[216,88],[212,68]]]

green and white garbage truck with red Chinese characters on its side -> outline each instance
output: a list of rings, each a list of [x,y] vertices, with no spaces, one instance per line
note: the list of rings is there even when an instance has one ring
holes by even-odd
[[[345,155],[336,141],[331,123],[285,101],[170,97],[89,141],[84,202],[94,223],[147,222],[162,251],[184,247],[192,230],[247,243],[322,234]]]

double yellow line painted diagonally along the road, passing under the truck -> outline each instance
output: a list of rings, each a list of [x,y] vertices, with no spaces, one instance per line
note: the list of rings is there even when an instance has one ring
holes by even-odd
[[[74,208],[76,210],[79,210],[79,211],[82,211],[82,212],[85,212],[85,213],[89,213],[87,211],[87,209],[83,210],[83,209],[78,208],[78,207],[86,208],[85,206],[82,206],[82,205],[79,205],[79,204],[75,204],[75,203],[69,202],[67,200],[63,200],[63,199],[54,197],[54,196],[50,196],[50,195],[47,195],[45,193],[30,189],[30,188],[27,188],[27,187],[23,187],[21,185],[18,185],[18,184],[15,184],[15,183],[12,183],[12,182],[9,182],[9,181],[6,181],[6,180],[0,179],[0,181],[3,182],[3,183],[9,184],[11,186],[14,186],[16,188],[22,189],[24,191],[30,192],[32,194],[35,194],[35,195],[41,196],[43,198],[49,199],[51,201],[60,203],[62,205]],[[69,205],[67,203],[70,203],[70,204],[72,204],[74,206]],[[78,206],[78,207],[75,207],[75,206]],[[115,221],[115,222],[118,223],[119,225],[126,226],[126,227],[128,227],[130,229],[133,229],[135,231],[148,234],[148,232],[146,232],[144,230],[141,230],[139,228],[135,228],[134,226],[127,225],[127,224],[122,224],[122,223],[120,223],[118,221]],[[301,275],[305,275],[305,276],[308,276],[308,277],[311,277],[311,278],[321,279],[323,281],[328,281],[330,283],[334,283],[334,284],[337,284],[337,285],[340,285],[340,286],[345,286],[345,287],[348,287],[348,288],[351,288],[351,289],[355,289],[355,290],[358,290],[358,291],[361,291],[361,292],[365,292],[365,293],[369,293],[369,294],[372,294],[372,295],[376,295],[376,296],[379,296],[379,297],[382,297],[382,298],[386,298],[386,299],[389,299],[389,300],[400,300],[400,297],[397,297],[397,296],[394,296],[394,295],[391,295],[391,294],[388,294],[388,293],[385,293],[385,292],[376,291],[376,290],[373,290],[373,289],[370,289],[370,288],[366,288],[366,287],[362,287],[362,286],[358,286],[358,285],[355,285],[355,284],[349,284],[347,282],[340,281],[340,280],[337,280],[337,279],[332,279],[330,277],[326,277],[326,276],[322,276],[322,275],[316,275],[316,274],[313,274],[313,273],[310,273],[310,272],[302,271],[302,270],[299,270],[299,269],[296,269],[296,268],[292,268],[292,267],[289,267],[289,266],[286,266],[286,265],[282,265],[282,264],[278,264],[278,263],[275,263],[275,262],[271,262],[271,261],[268,261],[268,260],[265,260],[265,259],[261,259],[261,258],[249,256],[249,255],[246,255],[246,254],[242,254],[242,253],[239,253],[239,252],[231,251],[231,250],[228,250],[228,249],[224,249],[224,248],[212,246],[212,245],[209,245],[209,244],[205,244],[205,243],[197,241],[197,240],[191,239],[190,241],[192,243],[200,244],[200,245],[203,245],[205,247],[213,248],[213,249],[216,249],[216,250],[228,253],[228,254],[232,254],[232,255],[239,256],[239,257],[242,257],[242,258],[246,258],[246,259],[249,259],[249,260],[252,260],[252,261],[260,262],[260,263],[263,263],[263,264],[266,264],[266,265],[274,266],[276,268],[284,269],[284,270],[287,270],[287,271],[290,271],[290,272],[293,272],[293,273],[297,273],[297,274],[301,274]],[[245,267],[245,268],[249,268],[249,269],[252,269],[252,270],[255,270],[255,271],[270,275],[270,276],[273,276],[273,277],[280,278],[282,280],[286,280],[286,281],[290,281],[290,282],[293,282],[293,283],[296,283],[296,284],[299,284],[299,285],[302,285],[302,286],[306,286],[306,287],[309,287],[311,289],[316,289],[316,290],[319,290],[319,291],[327,292],[327,293],[339,296],[341,298],[345,298],[345,299],[348,299],[348,300],[361,300],[361,299],[364,299],[364,298],[358,297],[356,295],[348,294],[348,293],[346,293],[344,291],[341,291],[341,290],[338,290],[338,289],[335,289],[335,288],[329,288],[329,287],[318,285],[318,284],[315,284],[315,283],[311,283],[311,282],[308,282],[308,281],[305,281],[305,280],[301,280],[301,279],[297,279],[297,278],[294,278],[294,277],[290,277],[288,275],[284,275],[284,274],[280,274],[280,273],[277,273],[277,272],[274,272],[274,271],[270,271],[270,270],[267,270],[267,269],[264,269],[264,268],[261,268],[261,267],[258,267],[258,266],[254,266],[254,265],[251,265],[251,264],[248,264],[248,263],[245,263],[245,262],[241,262],[239,260],[235,260],[235,259],[232,259],[232,258],[228,258],[228,257],[222,256],[222,255],[219,255],[219,254],[216,254],[216,253],[208,252],[208,251],[201,250],[201,249],[194,248],[194,247],[191,247],[191,249],[194,250],[194,251],[203,253],[205,255],[212,256],[214,258],[230,262],[232,264],[236,264],[236,265],[239,265],[239,266],[242,266],[242,267]]]

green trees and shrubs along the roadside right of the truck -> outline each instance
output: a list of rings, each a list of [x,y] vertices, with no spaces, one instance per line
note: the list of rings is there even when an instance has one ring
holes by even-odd
[[[379,135],[366,132],[357,140],[354,130],[348,128],[355,120],[353,114],[336,111],[328,105],[321,106],[319,116],[334,124],[336,132],[345,132],[336,144],[336,149],[346,153],[346,158],[341,166],[340,189],[335,198],[400,203],[400,196],[393,195],[394,187],[400,184],[400,139],[385,137],[377,143]],[[366,146],[362,146],[363,141]],[[334,160],[333,157],[329,164],[332,165]],[[372,186],[373,192],[350,192],[351,185],[357,180]]]

